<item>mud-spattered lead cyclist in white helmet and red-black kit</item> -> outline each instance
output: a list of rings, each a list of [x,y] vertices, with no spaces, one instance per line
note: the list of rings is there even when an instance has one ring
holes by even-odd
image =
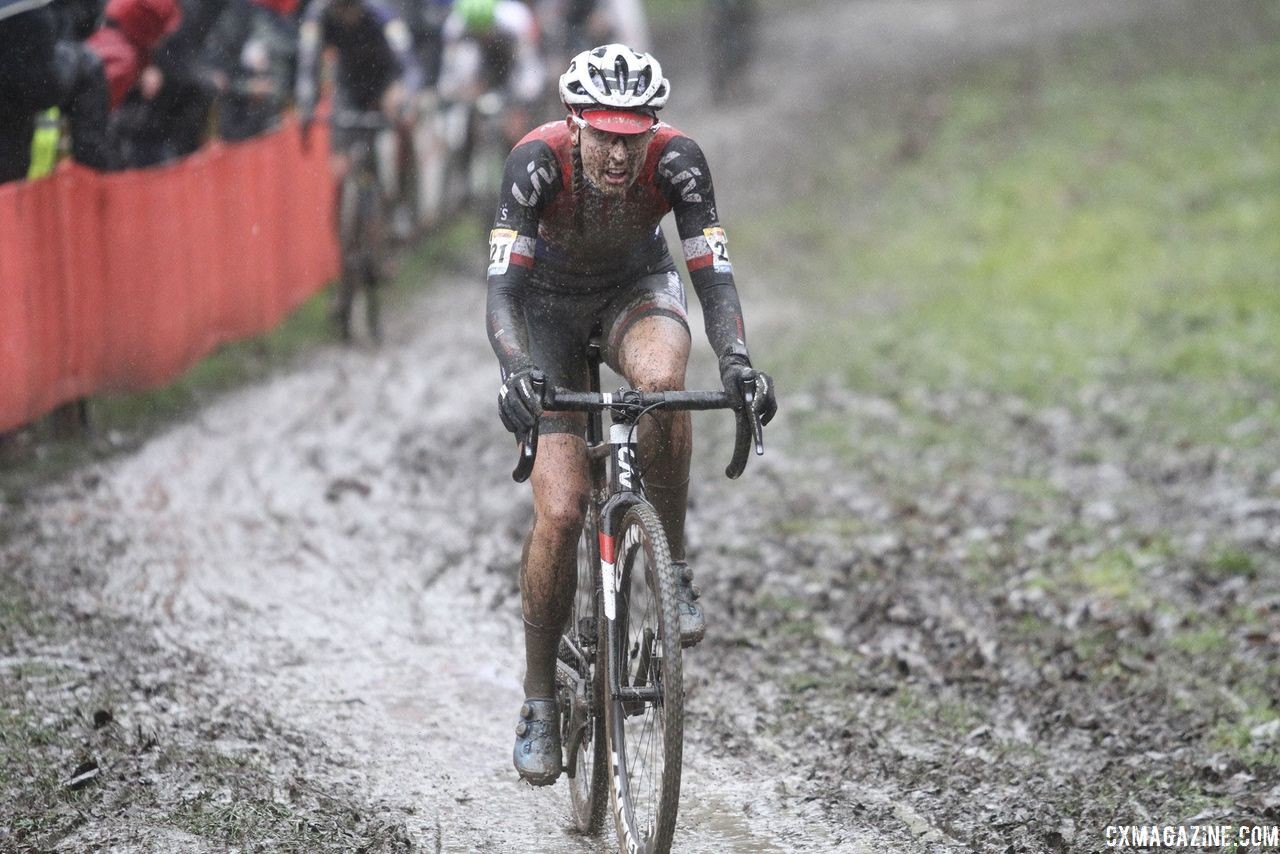
[[[489,236],[489,339],[502,365],[499,412],[508,430],[540,428],[534,525],[521,561],[526,700],[515,764],[547,785],[561,772],[556,653],[573,598],[588,497],[585,417],[541,412],[532,380],[585,388],[585,344],[602,335],[605,362],[645,391],[684,388],[690,333],[685,289],[658,228],[675,211],[721,379],[739,406],[755,382],[762,420],[777,408],[772,382],[746,350],[710,172],[691,138],[657,111],[669,85],[658,61],[623,45],[579,54],[559,79],[568,117],[529,133],[507,157]],[[704,634],[685,563],[691,425],[687,412],[645,419],[640,466],[677,563],[681,643]]]

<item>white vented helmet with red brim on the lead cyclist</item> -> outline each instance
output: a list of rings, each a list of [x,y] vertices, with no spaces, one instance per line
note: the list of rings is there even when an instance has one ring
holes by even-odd
[[[580,127],[608,133],[644,133],[657,124],[671,85],[649,54],[626,45],[584,50],[561,74],[561,101]]]

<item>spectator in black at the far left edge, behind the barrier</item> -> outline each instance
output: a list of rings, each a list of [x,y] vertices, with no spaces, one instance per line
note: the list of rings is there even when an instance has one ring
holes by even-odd
[[[36,114],[58,104],[58,18],[45,3],[0,0],[0,183],[27,177]]]

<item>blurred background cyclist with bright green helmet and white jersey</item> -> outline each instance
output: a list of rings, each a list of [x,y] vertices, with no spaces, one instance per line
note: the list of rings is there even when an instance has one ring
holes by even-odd
[[[532,124],[547,86],[538,23],[518,0],[457,0],[444,22],[440,96],[474,100],[485,92],[506,99],[507,145]]]

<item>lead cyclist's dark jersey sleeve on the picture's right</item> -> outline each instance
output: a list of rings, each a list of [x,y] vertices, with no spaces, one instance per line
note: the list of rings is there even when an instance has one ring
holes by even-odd
[[[707,339],[717,357],[746,356],[742,306],[733,284],[728,238],[716,213],[716,191],[707,157],[696,142],[677,136],[658,157],[654,179],[676,214],[676,229],[689,278],[703,305]]]

